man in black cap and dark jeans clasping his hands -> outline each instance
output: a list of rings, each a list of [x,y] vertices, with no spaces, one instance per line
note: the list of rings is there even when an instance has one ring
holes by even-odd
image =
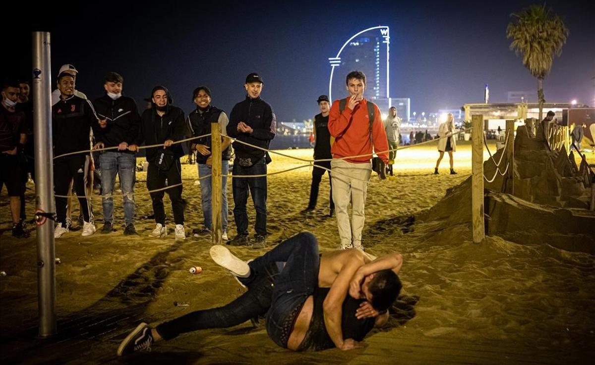
[[[273,109],[261,99],[262,78],[252,73],[246,77],[246,99],[237,103],[231,109],[230,121],[227,125],[227,135],[237,139],[233,149],[236,158],[233,162],[233,175],[266,175],[268,149],[270,141],[275,137],[277,124]],[[239,141],[252,144],[247,146]],[[246,203],[248,194],[252,195],[252,202],[256,209],[256,223],[254,229],[253,248],[265,247],[267,237],[267,177],[233,177],[231,181],[233,193],[233,217],[236,221],[237,236],[230,241],[232,246],[248,246],[248,213]]]

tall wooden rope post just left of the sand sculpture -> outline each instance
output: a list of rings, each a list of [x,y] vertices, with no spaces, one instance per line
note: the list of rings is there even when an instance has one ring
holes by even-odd
[[[483,115],[471,117],[471,128],[471,225],[473,242],[481,243],[486,237],[483,206]]]

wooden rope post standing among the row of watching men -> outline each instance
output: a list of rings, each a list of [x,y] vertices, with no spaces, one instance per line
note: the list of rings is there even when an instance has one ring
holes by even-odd
[[[221,125],[211,122],[211,217],[213,222],[213,244],[221,244]]]

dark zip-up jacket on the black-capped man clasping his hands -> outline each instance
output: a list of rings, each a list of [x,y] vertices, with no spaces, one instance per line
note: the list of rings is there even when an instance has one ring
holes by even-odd
[[[252,133],[243,133],[237,130],[239,122],[245,122],[252,128]],[[246,99],[237,103],[229,118],[227,125],[227,135],[237,140],[253,144],[262,148],[268,149],[268,145],[275,137],[275,128],[277,126],[277,119],[273,108],[260,97],[252,99],[246,96]],[[246,146],[239,142],[233,143],[233,149],[236,155],[242,158],[260,159],[264,157],[263,150],[255,149],[254,147]]]

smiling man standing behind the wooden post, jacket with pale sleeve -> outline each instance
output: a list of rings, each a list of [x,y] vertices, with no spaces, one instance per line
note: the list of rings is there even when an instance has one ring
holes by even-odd
[[[192,100],[196,109],[192,111],[186,121],[186,129],[189,137],[198,137],[211,134],[211,123],[218,123],[221,128],[221,225],[222,237],[227,241],[227,174],[229,172],[229,159],[231,156],[231,140],[224,137],[227,134],[227,114],[221,109],[211,105],[211,90],[206,86],[197,87],[192,93]],[[190,141],[190,151],[196,154],[198,165],[198,176],[202,178],[211,175],[211,136],[202,137]],[[212,235],[212,187],[211,178],[201,179],[201,201],[204,226],[197,229],[195,237],[211,237]]]

